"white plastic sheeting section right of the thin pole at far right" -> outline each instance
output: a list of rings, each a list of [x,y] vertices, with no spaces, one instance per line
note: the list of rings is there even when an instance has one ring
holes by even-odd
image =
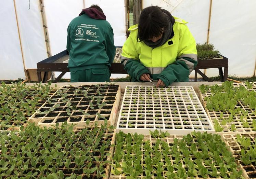
[[[229,7],[227,9],[227,7]],[[229,74],[253,76],[256,60],[256,1],[214,0],[210,43],[229,58]],[[215,72],[207,69],[211,76]]]

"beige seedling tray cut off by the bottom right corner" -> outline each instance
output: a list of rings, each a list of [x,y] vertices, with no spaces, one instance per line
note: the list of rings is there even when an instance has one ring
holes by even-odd
[[[243,163],[243,157],[241,154],[241,149],[245,150],[245,154],[251,154],[252,150],[256,149],[255,146],[255,138],[256,133],[248,133],[248,134],[238,134],[240,137],[244,138],[242,141],[246,143],[245,145],[242,145],[241,142],[237,139],[237,134],[223,134],[221,135],[223,141],[225,141],[226,145],[228,146],[229,150],[233,153],[236,162],[240,165],[240,168],[243,170],[243,177],[245,179],[249,178],[256,178],[256,163],[255,162],[248,162],[246,164]],[[247,139],[247,142],[245,142]],[[249,158],[245,159],[245,161],[249,161],[255,158],[252,158],[250,156]]]

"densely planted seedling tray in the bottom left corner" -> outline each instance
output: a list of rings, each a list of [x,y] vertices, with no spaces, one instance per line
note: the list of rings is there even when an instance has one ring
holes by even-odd
[[[60,128],[34,124],[0,132],[0,178],[104,178],[109,175],[113,126]]]

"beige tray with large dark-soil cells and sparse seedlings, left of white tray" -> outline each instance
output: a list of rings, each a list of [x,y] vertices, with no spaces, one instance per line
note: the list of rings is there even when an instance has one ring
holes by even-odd
[[[104,120],[107,119],[108,125],[112,125],[115,122],[120,100],[120,86],[62,86],[54,93],[51,100],[50,104],[46,102],[39,109],[41,113],[35,113],[29,121],[36,122],[42,127],[50,127],[64,121],[82,127],[87,125],[87,120],[90,121],[90,126],[93,126],[95,122],[99,125],[104,124]],[[51,112],[43,115],[43,111]]]

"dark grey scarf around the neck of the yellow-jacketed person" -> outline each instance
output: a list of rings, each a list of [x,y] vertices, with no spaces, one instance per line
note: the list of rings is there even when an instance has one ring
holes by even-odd
[[[171,13],[166,11],[165,9],[161,9],[163,13],[165,13],[169,18],[169,23],[167,24],[167,27],[164,29],[163,37],[159,39],[156,42],[152,42],[151,40],[144,40],[145,44],[148,45],[151,48],[156,48],[161,45],[163,45],[171,36],[172,33],[172,25],[175,22],[174,17],[172,17]]]

